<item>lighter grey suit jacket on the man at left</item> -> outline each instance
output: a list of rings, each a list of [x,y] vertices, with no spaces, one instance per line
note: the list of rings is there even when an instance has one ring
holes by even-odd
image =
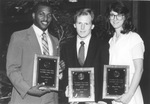
[[[54,55],[58,55],[58,40],[49,35]],[[57,94],[47,93],[41,97],[27,94],[32,86],[34,55],[41,55],[40,46],[32,27],[14,32],[7,53],[7,76],[13,84],[11,104],[57,104]],[[55,101],[56,100],[56,101]],[[54,101],[55,103],[50,103]]]

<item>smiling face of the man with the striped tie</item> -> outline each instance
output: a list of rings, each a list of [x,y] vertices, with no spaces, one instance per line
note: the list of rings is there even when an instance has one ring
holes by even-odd
[[[34,24],[39,27],[41,30],[45,31],[51,20],[51,8],[47,6],[39,6],[36,13],[32,14]]]

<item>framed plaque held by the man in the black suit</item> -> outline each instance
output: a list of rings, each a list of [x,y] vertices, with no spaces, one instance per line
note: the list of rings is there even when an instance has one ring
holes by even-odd
[[[69,102],[94,101],[94,68],[69,68]]]

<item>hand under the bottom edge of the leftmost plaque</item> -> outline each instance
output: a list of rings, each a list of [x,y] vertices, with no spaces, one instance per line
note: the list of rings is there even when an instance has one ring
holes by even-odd
[[[44,85],[45,84],[42,83],[42,84],[31,87],[29,91],[27,92],[27,94],[31,96],[41,97],[42,95],[49,93],[50,89],[40,89],[40,87],[43,87]]]

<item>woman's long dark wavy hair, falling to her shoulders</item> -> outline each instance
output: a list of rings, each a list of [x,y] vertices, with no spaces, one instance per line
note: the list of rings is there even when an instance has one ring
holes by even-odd
[[[132,19],[129,13],[129,9],[122,2],[114,2],[110,4],[106,10],[107,33],[109,35],[113,35],[115,32],[115,29],[112,27],[112,25],[110,24],[110,20],[109,20],[111,11],[117,12],[118,14],[122,14],[125,16],[125,21],[122,26],[123,30],[121,31],[121,33],[126,34],[129,31],[135,31],[135,27],[132,24]]]

